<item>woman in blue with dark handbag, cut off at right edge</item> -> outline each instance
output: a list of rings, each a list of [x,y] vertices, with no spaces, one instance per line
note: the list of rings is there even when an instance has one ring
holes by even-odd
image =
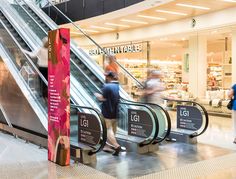
[[[232,100],[232,120],[234,127],[234,143],[236,144],[236,84],[229,91],[229,98]]]

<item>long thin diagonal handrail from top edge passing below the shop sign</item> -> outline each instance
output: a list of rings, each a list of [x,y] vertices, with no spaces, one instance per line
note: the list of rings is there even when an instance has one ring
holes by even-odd
[[[24,1],[24,0],[22,0]],[[76,25],[67,15],[65,15],[59,8],[57,8],[50,0],[48,0],[48,2],[51,4],[52,7],[54,7],[58,12],[60,12],[65,18],[66,20],[68,20],[76,29],[78,29],[85,37],[87,37],[89,40],[91,40],[99,49],[102,50],[102,52],[105,55],[108,55],[107,52],[95,41],[93,40],[85,31],[83,31],[78,25]],[[143,84],[138,81],[128,70],[126,70],[119,62],[117,62],[117,65],[123,70],[125,71],[139,86],[141,86],[142,88],[144,88]]]

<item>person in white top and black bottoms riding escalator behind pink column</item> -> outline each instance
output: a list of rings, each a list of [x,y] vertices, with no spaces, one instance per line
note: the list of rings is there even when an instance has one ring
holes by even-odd
[[[38,50],[35,50],[33,52],[29,52],[27,50],[22,50],[26,54],[28,54],[31,58],[37,58],[38,57],[38,67],[41,74],[44,76],[46,80],[48,80],[48,37],[45,37],[43,39],[43,46],[39,48]],[[42,96],[47,101],[48,98],[48,88],[47,85],[43,82],[43,80],[40,78],[39,81],[40,89]]]

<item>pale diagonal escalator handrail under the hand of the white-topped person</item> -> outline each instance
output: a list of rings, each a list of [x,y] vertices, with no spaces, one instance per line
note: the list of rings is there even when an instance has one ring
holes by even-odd
[[[7,18],[7,17],[6,17]],[[8,22],[10,23],[10,21],[8,20]],[[43,80],[43,82],[48,86],[48,82],[47,80],[44,78],[44,76],[41,74],[41,72],[39,71],[39,69],[36,67],[36,65],[34,64],[34,62],[25,54],[25,52],[22,51],[22,47],[20,46],[19,42],[15,39],[15,37],[11,34],[11,32],[9,31],[9,29],[5,26],[4,23],[2,23],[4,28],[7,30],[8,34],[11,36],[11,38],[14,40],[14,42],[16,43],[16,45],[18,46],[18,48],[21,50],[21,52],[24,54],[24,56],[26,57],[27,61],[30,63],[30,65],[33,67],[33,69],[37,72],[37,74],[39,75],[39,77]],[[11,23],[10,23],[11,24]],[[11,24],[12,25],[12,24]]]

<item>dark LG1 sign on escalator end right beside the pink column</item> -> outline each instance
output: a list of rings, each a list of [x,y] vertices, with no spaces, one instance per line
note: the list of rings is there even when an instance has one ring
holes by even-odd
[[[78,140],[81,143],[96,145],[100,142],[101,127],[93,114],[78,113]]]

